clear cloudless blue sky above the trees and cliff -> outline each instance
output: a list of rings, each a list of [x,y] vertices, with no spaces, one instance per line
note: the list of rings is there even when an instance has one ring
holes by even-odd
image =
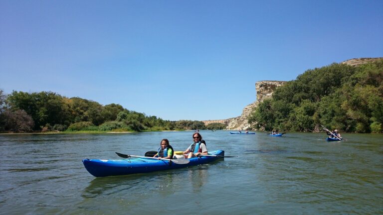
[[[0,89],[226,119],[255,82],[383,57],[383,0],[0,0]]]

